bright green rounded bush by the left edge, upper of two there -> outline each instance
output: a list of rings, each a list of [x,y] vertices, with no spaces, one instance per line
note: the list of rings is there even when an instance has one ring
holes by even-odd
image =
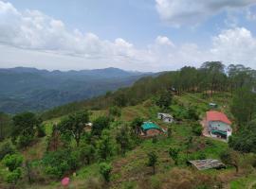
[[[9,168],[9,171],[14,171],[22,165],[23,157],[19,154],[8,154],[2,162]]]

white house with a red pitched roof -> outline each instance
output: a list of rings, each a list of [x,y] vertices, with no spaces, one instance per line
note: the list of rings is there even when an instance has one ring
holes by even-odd
[[[223,112],[207,112],[207,126],[212,137],[229,139],[232,133],[231,122]]]

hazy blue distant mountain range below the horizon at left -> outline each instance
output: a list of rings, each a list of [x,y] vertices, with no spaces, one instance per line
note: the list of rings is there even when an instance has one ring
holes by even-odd
[[[44,111],[132,85],[152,73],[118,68],[47,71],[15,67],[0,69],[0,112]]]

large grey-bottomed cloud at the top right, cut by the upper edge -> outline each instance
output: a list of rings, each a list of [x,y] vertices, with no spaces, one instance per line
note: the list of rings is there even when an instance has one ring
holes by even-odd
[[[172,26],[193,25],[225,9],[241,9],[255,0],[155,0],[160,18]]]

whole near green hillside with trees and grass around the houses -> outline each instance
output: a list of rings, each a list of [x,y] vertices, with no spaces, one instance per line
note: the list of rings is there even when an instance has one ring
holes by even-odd
[[[62,180],[78,189],[256,187],[255,81],[250,68],[210,61],[46,112],[2,113],[0,188],[62,188]],[[209,110],[229,116],[229,140],[204,134]],[[161,132],[144,135],[144,122]],[[206,159],[225,166],[190,164]]]

